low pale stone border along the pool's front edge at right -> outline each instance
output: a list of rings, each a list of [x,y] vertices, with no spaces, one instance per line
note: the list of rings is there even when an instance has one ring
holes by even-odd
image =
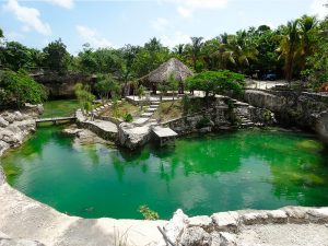
[[[278,210],[239,210],[188,218],[177,210],[164,226],[175,245],[236,245],[236,235],[246,226],[265,224],[326,224],[328,207],[284,207]],[[157,246],[166,245],[165,239]]]

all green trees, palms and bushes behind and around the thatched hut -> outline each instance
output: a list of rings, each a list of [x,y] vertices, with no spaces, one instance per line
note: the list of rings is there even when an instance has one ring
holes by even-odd
[[[191,37],[189,44],[179,44],[173,49],[153,37],[143,46],[129,44],[121,48],[94,49],[85,44],[73,56],[60,38],[38,50],[7,40],[5,33],[0,30],[0,68],[5,71],[1,75],[1,98],[4,102],[4,98],[12,96],[14,104],[45,99],[46,93],[42,86],[36,86],[28,78],[27,73],[35,71],[58,75],[96,74],[95,91],[103,99],[127,94],[141,96],[144,87],[140,87],[142,83],[139,79],[172,57],[181,60],[196,73],[187,82],[190,89],[204,90],[207,94],[232,89],[230,86],[238,91],[241,84],[233,85],[230,78],[237,77],[239,81],[241,77],[236,73],[255,79],[272,73],[290,82],[302,81],[307,89],[328,91],[327,38],[328,19],[319,21],[315,16],[304,15],[277,28],[260,25],[235,34],[218,34],[208,40]],[[33,84],[33,95],[27,95],[23,89],[10,87],[9,81],[13,79],[9,77],[20,81],[21,86]],[[224,77],[229,77],[226,84],[222,83]],[[26,81],[23,83],[23,80]],[[159,86],[160,91],[176,90],[175,81],[169,81]]]

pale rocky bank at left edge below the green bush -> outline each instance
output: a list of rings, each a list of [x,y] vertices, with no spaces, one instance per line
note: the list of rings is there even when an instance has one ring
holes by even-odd
[[[42,105],[26,105],[24,109],[0,113],[0,155],[10,148],[16,148],[35,131],[35,119],[42,114]]]

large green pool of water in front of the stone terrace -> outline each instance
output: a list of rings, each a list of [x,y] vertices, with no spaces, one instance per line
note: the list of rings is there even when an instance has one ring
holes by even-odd
[[[79,147],[58,127],[40,128],[1,164],[9,183],[61,212],[84,218],[163,219],[224,210],[328,206],[328,155],[312,136],[246,130],[189,137],[131,153]]]

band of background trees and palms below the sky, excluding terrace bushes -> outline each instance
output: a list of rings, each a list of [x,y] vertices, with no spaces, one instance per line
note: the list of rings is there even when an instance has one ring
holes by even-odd
[[[326,56],[320,56],[327,52],[327,19],[318,21],[307,15],[276,30],[260,25],[235,34],[219,34],[208,40],[191,37],[189,44],[179,44],[172,50],[155,37],[143,46],[126,45],[122,48],[93,49],[85,44],[78,56],[71,56],[61,39],[51,42],[43,50],[3,38],[0,44],[0,62],[4,68],[14,71],[46,68],[60,74],[110,74],[124,85],[125,94],[129,83],[172,57],[196,73],[231,70],[258,79],[274,74],[289,81],[309,81],[312,87],[320,87],[327,82]]]

